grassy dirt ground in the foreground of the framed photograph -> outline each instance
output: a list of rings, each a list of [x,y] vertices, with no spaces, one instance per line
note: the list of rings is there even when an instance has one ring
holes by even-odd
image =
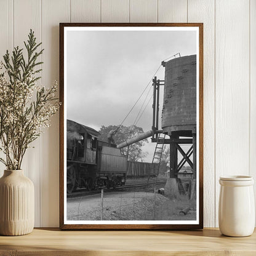
[[[187,214],[183,209],[190,208]],[[186,196],[170,200],[161,194],[116,191],[68,199],[68,220],[196,220],[196,201]]]

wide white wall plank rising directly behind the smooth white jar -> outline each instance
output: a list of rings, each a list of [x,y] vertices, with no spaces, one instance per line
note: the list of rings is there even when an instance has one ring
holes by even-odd
[[[249,174],[249,0],[216,1],[215,225],[218,179]]]

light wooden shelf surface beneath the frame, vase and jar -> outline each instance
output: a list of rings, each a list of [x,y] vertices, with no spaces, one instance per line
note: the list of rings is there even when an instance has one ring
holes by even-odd
[[[246,238],[198,231],[60,231],[34,229],[0,236],[0,255],[256,255],[256,231]]]

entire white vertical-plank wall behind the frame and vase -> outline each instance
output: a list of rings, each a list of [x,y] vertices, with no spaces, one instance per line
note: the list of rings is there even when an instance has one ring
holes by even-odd
[[[0,0],[0,56],[32,28],[42,79],[58,80],[60,22],[204,23],[204,226],[218,225],[218,177],[256,178],[256,0]],[[28,150],[36,226],[58,226],[58,114]],[[4,169],[1,166],[1,174]]]

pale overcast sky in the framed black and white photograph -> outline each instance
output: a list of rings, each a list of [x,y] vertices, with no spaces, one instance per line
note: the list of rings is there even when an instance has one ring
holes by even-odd
[[[178,52],[196,54],[196,32],[68,31],[66,46],[67,118],[98,130],[102,125],[121,124],[162,60]],[[156,76],[164,79],[162,66]],[[150,82],[146,102],[151,87]],[[148,90],[124,126],[134,124]],[[161,110],[162,103],[160,116]],[[151,129],[151,101],[137,126]],[[144,150],[150,154],[145,161],[151,162],[155,144],[148,144]]]

